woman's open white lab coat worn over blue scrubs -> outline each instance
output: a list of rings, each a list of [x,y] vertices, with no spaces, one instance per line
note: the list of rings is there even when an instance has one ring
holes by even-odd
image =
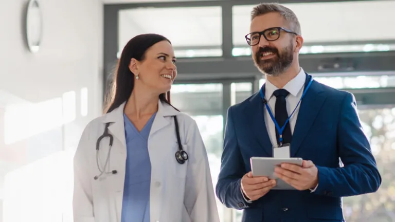
[[[127,150],[123,125],[124,104],[91,121],[85,128],[74,157],[74,222],[120,222]],[[183,149],[189,159],[179,164],[174,118],[176,115]],[[96,164],[96,141],[105,123],[114,136],[110,166],[100,172]],[[109,151],[108,137],[99,148],[103,168]],[[207,153],[196,122],[159,101],[148,139],[151,160],[150,222],[219,222]],[[138,171],[138,169],[136,169]]]

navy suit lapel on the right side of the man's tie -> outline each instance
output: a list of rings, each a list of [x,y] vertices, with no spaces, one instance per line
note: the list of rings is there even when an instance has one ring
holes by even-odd
[[[299,150],[300,145],[313,125],[322,104],[324,104],[324,101],[326,100],[326,97],[322,92],[321,85],[318,82],[313,81],[300,103],[295,130],[292,135],[291,157],[294,157]]]

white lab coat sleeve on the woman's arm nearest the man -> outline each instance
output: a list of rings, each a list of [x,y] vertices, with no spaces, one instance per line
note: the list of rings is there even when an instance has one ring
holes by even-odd
[[[185,207],[194,222],[220,222],[207,152],[195,121],[187,135],[190,155],[187,160]]]

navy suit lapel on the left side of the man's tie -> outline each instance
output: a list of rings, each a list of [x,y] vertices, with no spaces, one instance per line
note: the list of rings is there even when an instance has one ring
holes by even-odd
[[[273,145],[267,133],[263,111],[263,101],[257,93],[250,99],[249,105],[245,107],[245,118],[252,135],[261,145],[260,150],[265,151],[268,156],[272,157]],[[264,155],[262,154],[262,156]]]

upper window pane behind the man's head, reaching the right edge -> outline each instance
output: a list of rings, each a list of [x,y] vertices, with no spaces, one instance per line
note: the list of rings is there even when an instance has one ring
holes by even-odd
[[[310,47],[304,47],[301,53],[395,50],[394,44],[360,44],[352,46],[342,44],[322,46],[314,44],[395,39],[395,30],[388,28],[389,24],[395,22],[395,17],[392,16],[395,1],[350,1],[283,5],[295,12],[301,25],[304,44],[310,45]],[[235,49],[235,55],[242,55],[240,53],[245,48],[248,48],[244,35],[249,32],[250,12],[254,6],[233,7],[233,44],[236,48],[241,47]],[[352,12],[352,16],[350,16],[350,12]]]

